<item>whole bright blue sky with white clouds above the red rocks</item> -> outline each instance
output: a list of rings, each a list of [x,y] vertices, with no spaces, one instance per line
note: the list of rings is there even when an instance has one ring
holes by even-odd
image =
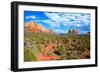
[[[24,11],[24,22],[31,21],[59,34],[70,29],[78,30],[80,34],[90,32],[88,13]]]

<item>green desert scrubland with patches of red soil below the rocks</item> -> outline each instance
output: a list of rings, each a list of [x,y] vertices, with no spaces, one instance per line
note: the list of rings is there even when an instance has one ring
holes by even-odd
[[[90,35],[25,32],[24,61],[90,58]]]

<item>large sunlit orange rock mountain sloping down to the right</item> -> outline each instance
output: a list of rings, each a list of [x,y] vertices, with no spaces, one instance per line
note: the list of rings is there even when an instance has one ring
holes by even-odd
[[[35,22],[27,22],[25,23],[25,32],[35,32],[35,33],[49,33],[49,34],[54,34],[53,31],[46,29],[42,25],[39,25]]]

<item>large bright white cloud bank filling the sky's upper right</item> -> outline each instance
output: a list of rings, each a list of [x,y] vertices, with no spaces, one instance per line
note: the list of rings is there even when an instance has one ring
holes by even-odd
[[[63,13],[46,12],[45,15],[50,20],[52,20],[51,22],[54,25],[56,25],[55,23],[59,23],[59,25],[64,25],[64,26],[73,25],[73,26],[76,26],[76,27],[80,27],[80,26],[89,25],[89,23],[90,23],[90,15],[89,14],[65,13],[65,12],[63,12]]]

